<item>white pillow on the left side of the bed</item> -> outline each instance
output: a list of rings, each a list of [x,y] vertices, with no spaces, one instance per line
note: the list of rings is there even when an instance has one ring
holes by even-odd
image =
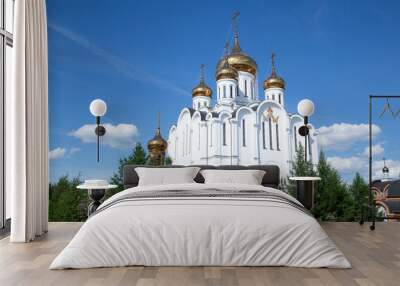
[[[139,176],[138,186],[194,183],[200,168],[135,168]]]

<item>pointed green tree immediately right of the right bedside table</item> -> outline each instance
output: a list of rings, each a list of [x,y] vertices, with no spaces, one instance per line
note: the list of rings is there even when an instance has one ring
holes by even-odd
[[[313,213],[321,220],[353,220],[354,201],[338,171],[320,152],[317,166],[321,181],[317,183]]]

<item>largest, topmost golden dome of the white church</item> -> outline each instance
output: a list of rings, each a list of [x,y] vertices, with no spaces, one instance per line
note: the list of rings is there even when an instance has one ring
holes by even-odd
[[[223,67],[224,62],[224,59],[218,62],[217,70]],[[235,35],[233,48],[228,56],[228,64],[237,71],[244,71],[253,75],[257,73],[257,63],[241,50],[237,35]]]

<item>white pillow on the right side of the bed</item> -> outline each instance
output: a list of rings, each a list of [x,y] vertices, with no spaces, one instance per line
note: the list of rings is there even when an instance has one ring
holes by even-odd
[[[265,171],[262,170],[202,170],[204,183],[261,185]]]

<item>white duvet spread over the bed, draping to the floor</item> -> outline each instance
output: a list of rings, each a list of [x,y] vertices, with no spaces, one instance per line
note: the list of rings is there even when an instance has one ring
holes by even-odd
[[[246,198],[115,200],[131,192],[265,190],[254,185],[181,184],[125,190],[105,201],[50,269],[145,266],[350,268],[318,222],[288,204]],[[108,206],[108,207],[107,207]]]

